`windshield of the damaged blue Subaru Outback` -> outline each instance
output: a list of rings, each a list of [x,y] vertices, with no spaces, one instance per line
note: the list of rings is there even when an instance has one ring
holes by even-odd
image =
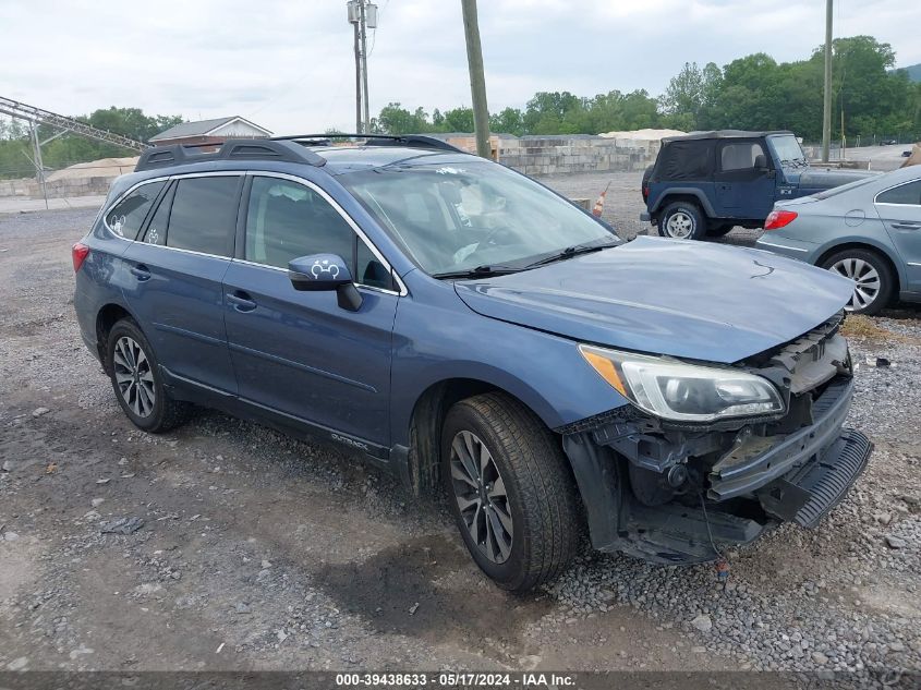
[[[340,181],[429,275],[521,269],[620,242],[566,199],[492,162],[388,166]]]

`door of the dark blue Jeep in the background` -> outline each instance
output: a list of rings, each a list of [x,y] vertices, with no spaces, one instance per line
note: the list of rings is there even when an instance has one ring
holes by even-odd
[[[727,218],[764,219],[774,206],[776,175],[771,174],[764,145],[758,140],[723,140],[717,146],[717,214]]]

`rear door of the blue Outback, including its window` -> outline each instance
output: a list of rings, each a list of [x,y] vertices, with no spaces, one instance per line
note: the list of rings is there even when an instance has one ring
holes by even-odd
[[[129,305],[160,365],[174,378],[233,395],[221,280],[233,254],[244,177],[181,177],[123,255]]]

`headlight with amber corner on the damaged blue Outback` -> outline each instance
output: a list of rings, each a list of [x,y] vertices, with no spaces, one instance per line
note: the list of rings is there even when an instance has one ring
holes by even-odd
[[[666,420],[712,422],[784,411],[777,388],[754,374],[587,344],[579,351],[625,398]]]

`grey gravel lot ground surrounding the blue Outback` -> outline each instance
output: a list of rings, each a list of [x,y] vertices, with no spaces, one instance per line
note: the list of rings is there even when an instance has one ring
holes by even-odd
[[[613,180],[630,237],[639,179],[543,181]],[[730,554],[725,589],[712,566],[585,553],[513,597],[439,500],[335,451],[207,411],[131,426],[71,305],[93,215],[0,215],[0,669],[921,670],[918,310],[851,340],[850,424],[876,450],[817,530]],[[106,533],[122,518],[142,526]]]

